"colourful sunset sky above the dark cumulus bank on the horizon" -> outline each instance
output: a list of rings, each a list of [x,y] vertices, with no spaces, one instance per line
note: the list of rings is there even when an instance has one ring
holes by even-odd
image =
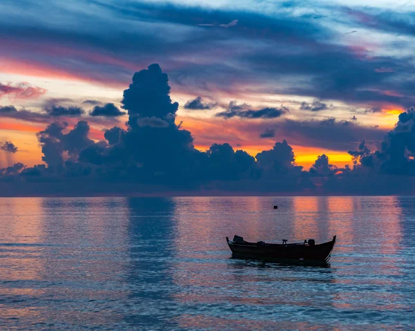
[[[413,1],[3,0],[0,22],[0,142],[17,147],[0,168],[47,167],[56,121],[88,122],[94,143],[128,131],[123,91],[151,64],[197,150],[286,140],[304,170],[323,154],[353,167],[415,105]]]

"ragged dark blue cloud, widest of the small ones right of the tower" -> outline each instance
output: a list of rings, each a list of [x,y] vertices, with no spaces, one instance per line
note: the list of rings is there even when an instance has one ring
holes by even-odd
[[[286,106],[281,106],[280,108],[275,107],[266,107],[261,108],[259,110],[252,110],[248,108],[248,104],[238,105],[237,102],[232,101],[230,102],[228,109],[221,113],[217,113],[216,117],[224,117],[224,118],[231,118],[231,117],[240,117],[240,118],[250,118],[250,119],[257,119],[257,118],[277,118],[281,117],[285,113],[289,112],[289,109]]]

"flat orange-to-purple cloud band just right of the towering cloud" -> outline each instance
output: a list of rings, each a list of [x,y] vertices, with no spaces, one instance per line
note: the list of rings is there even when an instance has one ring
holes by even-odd
[[[348,123],[324,117],[315,120],[301,120],[281,117],[277,120],[245,120],[234,118],[232,123],[221,117],[185,119],[185,127],[192,128],[196,145],[210,146],[213,142],[228,142],[232,146],[255,146],[255,149],[268,148],[269,139],[261,138],[261,133],[274,130],[274,141],[287,140],[291,145],[313,147],[331,151],[348,151],[356,148],[362,138],[373,144],[382,141],[389,131],[385,127],[366,125],[363,122]],[[232,125],[231,125],[232,124]]]

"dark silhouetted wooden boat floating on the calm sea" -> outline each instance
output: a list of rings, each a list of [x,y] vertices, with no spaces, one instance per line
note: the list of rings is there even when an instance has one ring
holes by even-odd
[[[314,239],[304,240],[303,243],[288,243],[282,240],[282,244],[271,244],[259,241],[249,243],[240,236],[234,236],[233,240],[226,237],[232,256],[237,258],[252,258],[258,260],[275,261],[321,261],[328,262],[335,244],[335,238],[327,243],[315,244]]]

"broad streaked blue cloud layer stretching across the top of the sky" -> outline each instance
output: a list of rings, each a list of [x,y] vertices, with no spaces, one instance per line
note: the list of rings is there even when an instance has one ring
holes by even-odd
[[[376,47],[372,43],[357,47],[339,42],[338,26],[333,23],[342,17],[342,27],[349,31],[356,21],[362,26],[372,22],[365,32],[376,41],[378,33],[410,35],[413,24],[409,13],[391,9],[381,13],[373,8],[353,12],[342,6],[304,2],[291,6],[277,3],[270,11],[261,10],[262,6],[242,10],[142,1],[115,6],[100,1],[94,4],[100,15],[88,10],[82,14],[95,29],[73,24],[67,30],[65,20],[45,25],[41,19],[45,12],[61,12],[68,21],[80,20],[79,12],[59,2],[40,4],[30,13],[14,6],[3,11],[0,37],[6,44],[13,42],[4,60],[14,64],[10,70],[20,73],[27,71],[28,54],[35,49],[30,68],[37,75],[69,75],[109,86],[128,82],[137,65],[160,58],[171,70],[176,91],[194,95],[212,95],[215,90],[230,95],[286,94],[353,106],[390,102],[409,107],[415,100],[410,43],[385,36]],[[321,14],[310,14],[316,10]],[[198,26],[218,26],[235,21],[234,17],[243,22],[243,28]],[[131,21],[139,26],[139,32],[131,30]],[[127,39],[131,42],[125,44]],[[118,49],[123,52],[114,51]],[[394,72],[382,68],[393,68]],[[388,89],[401,96],[382,93]]]

